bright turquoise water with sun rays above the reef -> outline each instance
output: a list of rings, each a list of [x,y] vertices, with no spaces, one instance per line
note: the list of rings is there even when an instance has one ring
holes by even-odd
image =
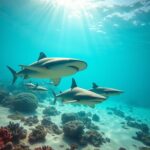
[[[117,88],[125,93],[115,101],[150,107],[149,1],[90,1],[84,8],[52,2],[0,0],[1,80],[12,80],[6,65],[19,70],[43,51],[86,61],[88,68],[71,76],[80,87]],[[58,88],[68,89],[71,77]]]

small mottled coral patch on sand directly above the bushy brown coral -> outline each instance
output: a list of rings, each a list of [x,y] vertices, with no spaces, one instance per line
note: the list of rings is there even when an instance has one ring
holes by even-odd
[[[25,118],[23,121],[24,121],[24,125],[28,125],[28,126],[33,126],[39,122],[37,116],[30,116],[28,118]]]

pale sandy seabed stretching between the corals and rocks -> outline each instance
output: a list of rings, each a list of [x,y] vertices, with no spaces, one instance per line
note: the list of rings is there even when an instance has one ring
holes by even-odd
[[[39,120],[42,120],[43,110],[48,105],[48,103],[41,103],[37,109],[36,115]],[[127,150],[139,150],[139,147],[145,146],[140,141],[137,141],[132,138],[135,136],[138,129],[129,127],[125,125],[125,128],[122,127],[122,122],[126,122],[124,118],[121,118],[115,114],[109,114],[108,107],[116,107],[124,112],[126,116],[131,116],[136,120],[141,120],[141,122],[146,123],[150,127],[150,110],[144,108],[136,108],[130,107],[123,103],[118,103],[115,101],[107,101],[103,104],[99,104],[95,109],[84,107],[84,106],[74,106],[71,104],[68,105],[56,105],[57,110],[63,113],[70,112],[91,112],[92,114],[98,114],[100,117],[99,122],[94,122],[95,125],[99,126],[100,132],[103,132],[105,137],[110,139],[110,142],[104,143],[100,147],[93,147],[92,145],[88,145],[83,148],[79,148],[82,150],[118,150],[120,147],[124,147]],[[131,111],[132,109],[132,111]],[[34,126],[29,127],[25,126],[21,121],[14,121],[9,119],[7,116],[12,114],[9,108],[5,108],[0,106],[0,126],[6,126],[10,121],[20,123],[25,129],[28,130],[28,134],[31,133],[31,129]],[[61,114],[57,116],[51,116],[51,120],[55,122],[58,126],[62,126],[61,124]],[[36,124],[37,125],[37,124]],[[36,126],[35,125],[35,126]],[[48,133],[46,136],[46,141],[44,143],[38,143],[30,145],[28,140],[23,140],[24,143],[30,146],[31,149],[34,150],[35,147],[42,145],[49,145],[53,147],[55,150],[66,150],[69,147],[69,144],[64,140],[63,134],[56,135]]]

